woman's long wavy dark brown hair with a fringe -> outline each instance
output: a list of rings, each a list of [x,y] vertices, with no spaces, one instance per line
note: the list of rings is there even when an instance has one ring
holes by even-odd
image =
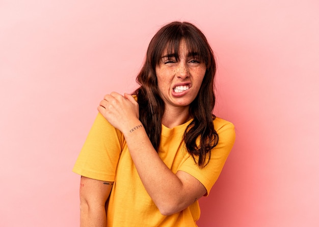
[[[185,41],[190,53],[205,61],[206,72],[195,100],[190,104],[189,113],[193,118],[184,132],[184,142],[200,168],[205,167],[210,159],[211,149],[218,143],[212,110],[215,106],[214,78],[216,61],[204,34],[189,22],[171,22],[157,31],[150,41],[146,59],[136,81],[140,87],[134,91],[137,95],[140,120],[155,148],[158,150],[161,140],[165,104],[159,95],[155,69],[162,54],[178,53],[181,40]]]

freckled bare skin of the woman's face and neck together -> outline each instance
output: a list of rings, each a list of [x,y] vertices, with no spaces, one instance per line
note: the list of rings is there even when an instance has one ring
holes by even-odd
[[[205,63],[190,55],[183,40],[178,54],[177,60],[165,52],[156,67],[157,85],[165,103],[162,123],[167,127],[174,127],[189,119],[189,105],[196,98],[206,72]],[[188,86],[189,89],[175,92],[173,88],[177,85]],[[182,122],[172,122],[172,119],[178,118]]]

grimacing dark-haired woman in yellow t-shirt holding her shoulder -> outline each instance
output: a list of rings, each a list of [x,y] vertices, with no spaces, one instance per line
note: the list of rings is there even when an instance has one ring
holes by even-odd
[[[216,63],[201,31],[172,22],[151,40],[134,95],[104,96],[73,171],[81,226],[197,226],[234,143],[212,114]]]

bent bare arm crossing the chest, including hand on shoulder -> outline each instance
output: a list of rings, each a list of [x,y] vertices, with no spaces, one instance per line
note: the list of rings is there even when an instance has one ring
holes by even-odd
[[[163,215],[179,212],[206,193],[192,175],[174,174],[159,158],[139,120],[139,106],[128,94],[104,96],[98,111],[124,135],[128,150],[149,196]]]

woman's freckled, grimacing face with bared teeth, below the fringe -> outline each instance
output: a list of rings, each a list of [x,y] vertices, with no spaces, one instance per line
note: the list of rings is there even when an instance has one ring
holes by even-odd
[[[156,66],[156,77],[165,106],[188,108],[197,96],[205,72],[205,62],[189,53],[183,40],[179,44],[178,59],[174,53],[164,52]]]

